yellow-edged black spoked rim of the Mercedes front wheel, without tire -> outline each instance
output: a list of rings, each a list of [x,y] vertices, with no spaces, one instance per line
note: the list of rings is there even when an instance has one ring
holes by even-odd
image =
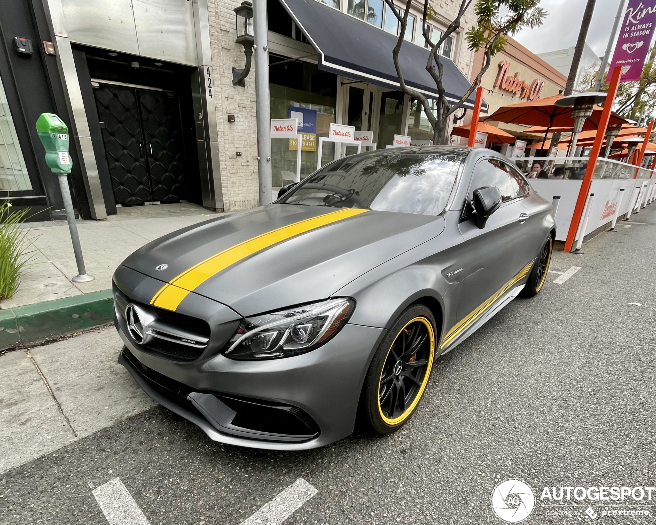
[[[411,319],[396,334],[378,383],[378,410],[385,423],[397,425],[413,413],[428,384],[434,355],[435,331],[426,317]]]

